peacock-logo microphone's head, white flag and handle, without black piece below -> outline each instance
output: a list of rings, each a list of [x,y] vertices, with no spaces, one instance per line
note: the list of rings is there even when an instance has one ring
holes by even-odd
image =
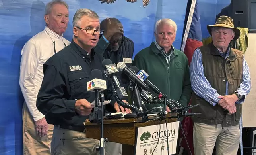
[[[87,90],[95,93],[95,107],[99,106],[99,92],[107,89],[106,81],[103,80],[100,70],[92,70],[90,75],[91,81],[87,82]]]

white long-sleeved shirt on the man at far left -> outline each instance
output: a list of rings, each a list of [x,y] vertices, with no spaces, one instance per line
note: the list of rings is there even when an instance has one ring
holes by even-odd
[[[56,52],[65,47],[64,43],[66,46],[70,45],[68,40],[45,27],[43,31],[33,36],[21,50],[19,85],[34,121],[45,117],[37,110],[36,101],[43,81],[43,64],[55,54],[54,41]]]

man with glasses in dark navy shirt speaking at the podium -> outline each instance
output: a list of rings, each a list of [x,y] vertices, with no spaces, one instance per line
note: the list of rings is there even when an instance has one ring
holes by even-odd
[[[55,125],[53,155],[99,154],[96,152],[99,140],[86,138],[83,122],[91,113],[91,103],[95,100],[94,93],[87,91],[90,73],[98,69],[104,74],[104,57],[93,50],[100,33],[97,13],[79,9],[73,18],[71,44],[43,65],[44,78],[37,96],[37,108],[49,124]]]

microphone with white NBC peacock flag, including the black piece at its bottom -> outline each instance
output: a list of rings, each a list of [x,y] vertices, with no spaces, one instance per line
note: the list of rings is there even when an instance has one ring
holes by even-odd
[[[95,107],[91,110],[89,121],[91,123],[101,123],[102,110],[99,108],[99,93],[107,89],[107,84],[103,80],[102,72],[98,69],[91,71],[90,79],[92,80],[87,82],[87,91],[95,93]]]

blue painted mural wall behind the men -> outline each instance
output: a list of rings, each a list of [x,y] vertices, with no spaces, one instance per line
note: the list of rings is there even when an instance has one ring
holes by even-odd
[[[202,36],[209,36],[206,25],[215,21],[216,6],[223,0],[199,0]],[[49,0],[0,0],[0,154],[22,155],[22,104],[19,89],[19,64],[23,45],[43,30],[45,4]],[[173,43],[180,49],[187,0],[151,0],[143,8],[142,0],[101,4],[97,0],[67,0],[70,21],[77,9],[96,11],[100,19],[116,17],[124,25],[124,34],[134,41],[134,55],[154,41],[153,28],[161,18],[171,18],[178,25]],[[218,9],[219,9],[218,7]],[[64,34],[72,38],[72,22]]]

